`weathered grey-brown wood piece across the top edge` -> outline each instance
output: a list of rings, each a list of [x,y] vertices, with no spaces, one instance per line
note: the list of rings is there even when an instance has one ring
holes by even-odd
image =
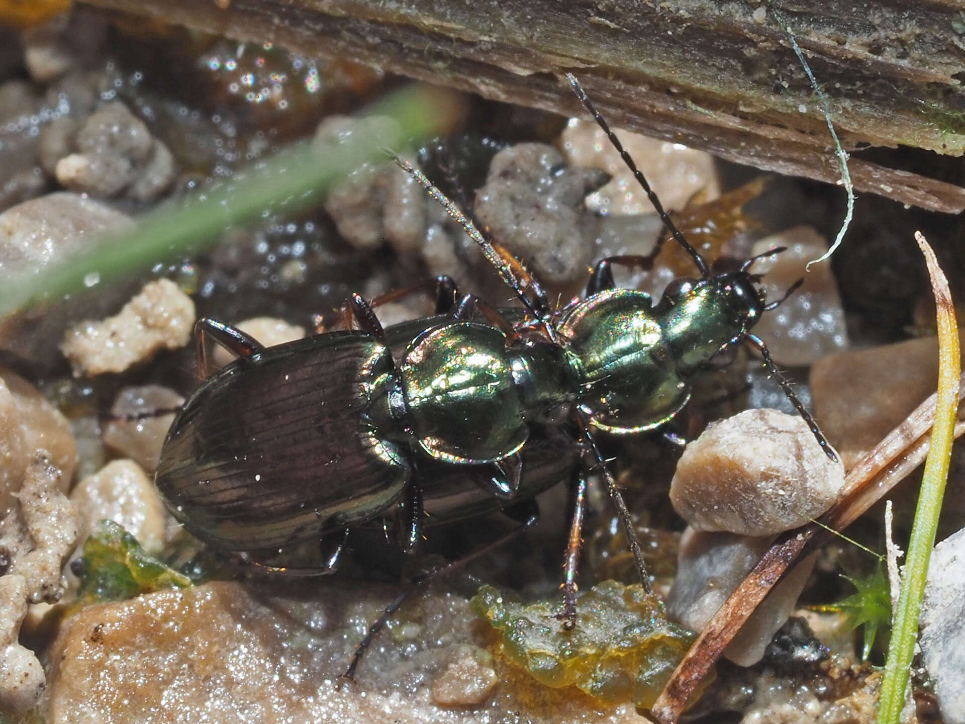
[[[88,0],[309,56],[347,57],[483,97],[583,115],[781,174],[835,182],[831,139],[766,4],[670,0]],[[965,152],[965,16],[951,0],[802,0],[786,21],[846,150]],[[858,191],[965,209],[965,189],[852,158]]]

